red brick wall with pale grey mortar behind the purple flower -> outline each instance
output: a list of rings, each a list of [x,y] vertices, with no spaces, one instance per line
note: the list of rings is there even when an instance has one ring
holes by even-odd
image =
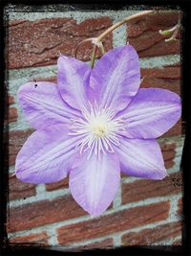
[[[92,219],[72,198],[68,179],[53,184],[22,183],[11,176],[15,156],[32,128],[18,106],[16,92],[27,81],[56,81],[59,52],[74,56],[82,39],[99,35],[123,17],[140,12],[127,10],[69,10],[52,6],[47,12],[29,7],[8,7],[9,85],[9,244],[53,245],[52,249],[106,248],[121,245],[181,244],[182,180],[180,159],[184,136],[181,123],[159,138],[169,174],[162,181],[122,175],[117,197],[100,217]],[[51,10],[51,11],[50,11]],[[30,11],[30,12],[28,12]],[[180,94],[180,39],[164,42],[159,29],[177,24],[178,12],[165,11],[118,28],[105,41],[106,49],[126,44],[138,51],[141,86],[167,88]],[[78,58],[90,60],[91,44],[80,47]],[[56,246],[54,246],[56,245]]]

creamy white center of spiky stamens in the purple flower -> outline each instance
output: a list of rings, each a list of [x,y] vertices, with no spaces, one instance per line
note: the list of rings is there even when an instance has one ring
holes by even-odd
[[[91,105],[91,104],[90,104]],[[124,131],[124,120],[115,117],[115,111],[110,108],[100,108],[96,104],[90,109],[81,110],[83,119],[73,121],[70,135],[80,137],[77,147],[80,152],[90,150],[99,156],[100,151],[114,152],[114,145],[119,146],[121,131]]]

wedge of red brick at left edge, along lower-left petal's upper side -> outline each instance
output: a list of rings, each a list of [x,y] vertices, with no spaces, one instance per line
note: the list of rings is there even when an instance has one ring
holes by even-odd
[[[9,133],[9,163],[14,165],[15,157],[22,148],[27,138],[32,134],[32,129],[15,130]]]

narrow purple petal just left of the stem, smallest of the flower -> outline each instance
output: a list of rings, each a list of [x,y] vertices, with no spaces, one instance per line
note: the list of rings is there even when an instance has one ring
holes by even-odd
[[[76,109],[87,103],[90,66],[76,58],[61,56],[57,61],[57,84],[63,100]]]

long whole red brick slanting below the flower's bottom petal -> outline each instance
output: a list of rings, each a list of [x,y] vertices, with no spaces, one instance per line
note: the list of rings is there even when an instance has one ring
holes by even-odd
[[[165,220],[169,214],[169,206],[169,201],[164,201],[118,211],[91,221],[62,226],[57,229],[58,242],[71,244]]]

